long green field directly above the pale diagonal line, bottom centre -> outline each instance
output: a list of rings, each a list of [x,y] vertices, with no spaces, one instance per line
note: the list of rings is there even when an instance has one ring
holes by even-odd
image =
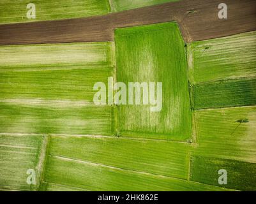
[[[186,143],[130,138],[51,136],[49,154],[187,179],[190,146]]]

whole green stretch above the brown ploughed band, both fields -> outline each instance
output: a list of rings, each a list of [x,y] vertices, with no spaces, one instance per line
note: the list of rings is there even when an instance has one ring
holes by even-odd
[[[2,0],[0,24],[93,17],[179,0]],[[27,4],[36,6],[36,18],[27,18]]]

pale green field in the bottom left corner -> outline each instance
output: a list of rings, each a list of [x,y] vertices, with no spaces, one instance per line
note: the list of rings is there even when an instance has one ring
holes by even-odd
[[[45,139],[40,135],[0,135],[0,189],[38,189]],[[27,184],[27,170],[36,172],[36,185]]]

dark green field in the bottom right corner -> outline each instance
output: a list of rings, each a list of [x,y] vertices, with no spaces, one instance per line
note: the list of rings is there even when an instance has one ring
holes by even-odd
[[[218,178],[220,177],[218,171],[221,169],[227,171],[227,184],[225,184],[225,187],[243,191],[256,190],[255,163],[209,157],[192,157],[191,180],[203,184],[223,186],[218,184]]]

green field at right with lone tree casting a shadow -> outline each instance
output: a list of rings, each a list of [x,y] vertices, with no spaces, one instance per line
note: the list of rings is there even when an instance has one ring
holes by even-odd
[[[256,163],[256,107],[195,112],[197,156]]]

